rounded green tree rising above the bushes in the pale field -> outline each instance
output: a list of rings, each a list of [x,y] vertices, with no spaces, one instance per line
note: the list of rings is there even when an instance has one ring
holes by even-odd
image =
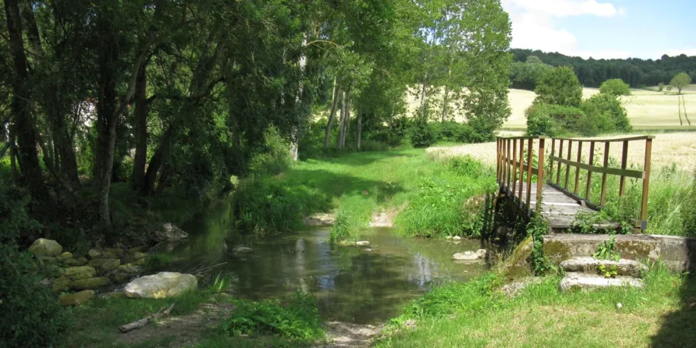
[[[583,86],[572,68],[559,67],[549,70],[541,77],[535,88],[536,103],[580,106],[583,99]]]

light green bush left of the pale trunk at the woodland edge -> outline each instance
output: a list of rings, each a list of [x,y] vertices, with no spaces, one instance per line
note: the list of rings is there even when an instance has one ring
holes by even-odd
[[[264,132],[264,144],[251,157],[249,171],[257,175],[275,175],[285,171],[291,163],[290,143],[271,125]]]

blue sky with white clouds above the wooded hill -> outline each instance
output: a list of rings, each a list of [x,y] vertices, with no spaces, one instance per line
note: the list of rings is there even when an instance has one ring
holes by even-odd
[[[696,0],[502,0],[513,48],[583,58],[696,56]]]

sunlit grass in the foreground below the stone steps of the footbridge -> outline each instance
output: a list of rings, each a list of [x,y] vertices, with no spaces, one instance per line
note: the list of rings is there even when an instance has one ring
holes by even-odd
[[[500,280],[493,274],[438,287],[393,319],[391,333],[377,347],[645,347],[694,342],[696,323],[689,319],[685,303],[696,294],[693,280],[659,266],[646,275],[644,290],[562,293],[559,280],[544,278],[514,298],[496,291]],[[401,326],[408,319],[416,319],[416,329]]]

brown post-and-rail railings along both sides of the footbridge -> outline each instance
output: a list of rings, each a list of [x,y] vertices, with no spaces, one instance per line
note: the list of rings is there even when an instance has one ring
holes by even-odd
[[[537,185],[537,202],[541,199],[544,179],[551,187],[562,191],[578,203],[591,209],[603,209],[606,205],[608,177],[619,177],[618,196],[626,193],[626,178],[642,180],[640,198],[640,220],[635,221],[637,230],[647,228],[647,203],[650,182],[650,157],[654,136],[631,136],[616,139],[573,139],[546,138],[543,136],[514,136],[498,137],[498,184],[509,195],[515,198],[525,198],[528,213],[531,212],[531,187]],[[537,143],[535,146],[534,143]],[[551,141],[551,152],[546,156],[545,145]],[[526,143],[526,146],[525,146]],[[615,153],[621,159],[620,168],[610,167],[610,152],[615,149],[612,143],[621,145],[620,152]],[[644,143],[642,149],[642,168],[628,168],[629,143]],[[583,152],[583,145],[589,145],[589,152]],[[639,146],[640,148],[640,146]],[[557,152],[556,152],[557,150]],[[535,155],[536,153],[536,155]],[[601,166],[596,165],[595,155],[602,156]],[[587,155],[587,157],[585,157]],[[536,156],[536,158],[535,158]],[[545,159],[548,158],[548,161]],[[587,163],[583,161],[587,158]],[[534,163],[541,164],[535,167]],[[544,173],[544,167],[548,173]],[[526,173],[526,175],[524,175]],[[585,190],[580,189],[580,176],[586,174]],[[532,174],[537,175],[537,182],[532,182]],[[546,175],[548,174],[548,175]],[[601,191],[599,202],[592,201],[592,177],[601,175]],[[519,182],[519,187],[517,186]],[[523,192],[523,186],[525,192]],[[523,195],[523,193],[526,193]],[[596,196],[596,194],[595,194]]]

